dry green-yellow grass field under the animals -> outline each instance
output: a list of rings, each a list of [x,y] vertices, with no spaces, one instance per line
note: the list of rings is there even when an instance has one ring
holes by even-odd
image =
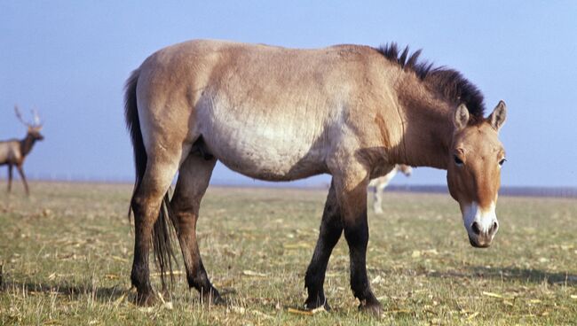
[[[3,325],[577,323],[574,199],[500,198],[499,234],[480,250],[448,195],[387,193],[385,214],[369,213],[368,275],[385,311],[376,319],[357,311],[343,238],[325,284],[333,311],[298,310],[326,191],[209,189],[200,246],[228,305],[201,304],[178,254],[172,297],[140,308],[129,280],[130,185],[33,182],[30,198],[4,185]]]

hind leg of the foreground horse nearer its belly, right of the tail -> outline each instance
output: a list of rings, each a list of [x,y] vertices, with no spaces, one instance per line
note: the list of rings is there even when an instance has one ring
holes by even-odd
[[[188,285],[201,293],[203,302],[218,304],[222,303],[223,299],[209,281],[196,238],[199,207],[209,187],[210,176],[216,162],[216,159],[206,153],[198,151],[191,153],[180,167],[170,208],[175,217]]]

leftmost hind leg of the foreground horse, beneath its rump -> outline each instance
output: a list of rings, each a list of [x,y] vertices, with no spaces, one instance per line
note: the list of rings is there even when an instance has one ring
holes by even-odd
[[[153,229],[155,233],[154,241],[160,246],[166,244],[159,244],[157,241],[157,237],[160,234],[157,232],[155,223],[159,217],[162,198],[165,196],[170,187],[170,182],[172,182],[178,170],[178,159],[178,155],[164,159],[149,155],[145,174],[132,198],[131,206],[134,212],[135,241],[130,280],[132,285],[137,288],[137,303],[141,306],[148,306],[154,303],[154,292],[150,284],[148,255],[150,245],[153,243]],[[166,258],[166,255],[164,255],[164,258]],[[170,257],[168,259],[170,260]]]

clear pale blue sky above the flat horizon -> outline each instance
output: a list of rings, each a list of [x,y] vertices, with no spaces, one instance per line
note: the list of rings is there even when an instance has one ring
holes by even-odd
[[[26,133],[15,104],[25,119],[36,108],[45,140],[26,161],[29,177],[130,181],[123,84],[155,50],[200,38],[296,48],[397,42],[461,71],[488,112],[507,103],[503,185],[574,187],[576,17],[575,1],[0,0],[0,139]],[[213,181],[260,184],[220,165]],[[393,183],[445,184],[446,172],[419,167]]]

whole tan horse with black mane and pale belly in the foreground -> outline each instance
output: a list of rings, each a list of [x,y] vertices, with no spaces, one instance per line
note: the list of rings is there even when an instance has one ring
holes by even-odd
[[[131,74],[125,97],[136,163],[130,279],[138,303],[154,299],[151,245],[161,272],[170,269],[168,221],[189,285],[204,300],[221,300],[196,239],[199,206],[217,160],[268,181],[332,175],[304,280],[308,308],[328,307],[328,258],[344,233],[352,292],[360,308],[382,310],[366,269],[367,186],[396,164],[447,169],[470,244],[490,245],[498,229],[495,203],[505,154],[497,136],[505,104],[484,118],[478,89],[454,70],[420,63],[419,53],[399,53],[396,44],[293,50],[191,41],[146,58]]]

